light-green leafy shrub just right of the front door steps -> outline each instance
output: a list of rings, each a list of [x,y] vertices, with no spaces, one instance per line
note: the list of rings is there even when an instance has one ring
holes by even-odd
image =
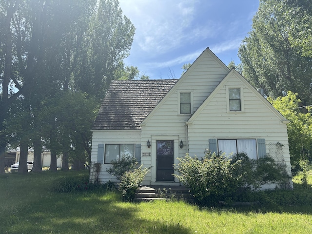
[[[225,154],[207,153],[202,159],[186,155],[178,159],[179,175],[175,176],[190,188],[195,200],[201,204],[228,200],[242,184],[242,175],[236,173],[240,161],[232,163]]]

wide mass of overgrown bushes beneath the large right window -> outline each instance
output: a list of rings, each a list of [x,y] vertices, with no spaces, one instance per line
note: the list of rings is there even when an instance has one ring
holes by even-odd
[[[231,202],[242,194],[257,191],[267,183],[280,183],[285,167],[265,156],[258,160],[246,154],[226,156],[206,152],[201,159],[186,155],[178,158],[175,175],[190,188],[195,200],[202,205],[214,205],[219,200]]]

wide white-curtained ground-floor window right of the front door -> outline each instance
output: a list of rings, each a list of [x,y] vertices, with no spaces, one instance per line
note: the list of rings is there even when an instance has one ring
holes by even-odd
[[[257,159],[256,139],[219,139],[218,152],[226,153],[246,153],[249,158]]]

